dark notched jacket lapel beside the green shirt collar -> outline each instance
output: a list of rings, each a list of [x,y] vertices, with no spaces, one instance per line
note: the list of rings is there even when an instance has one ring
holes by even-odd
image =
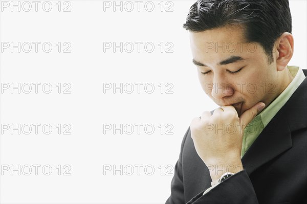
[[[303,70],[305,76],[306,71]],[[244,169],[249,175],[261,165],[292,147],[291,132],[307,127],[306,103],[307,78],[242,157]]]

